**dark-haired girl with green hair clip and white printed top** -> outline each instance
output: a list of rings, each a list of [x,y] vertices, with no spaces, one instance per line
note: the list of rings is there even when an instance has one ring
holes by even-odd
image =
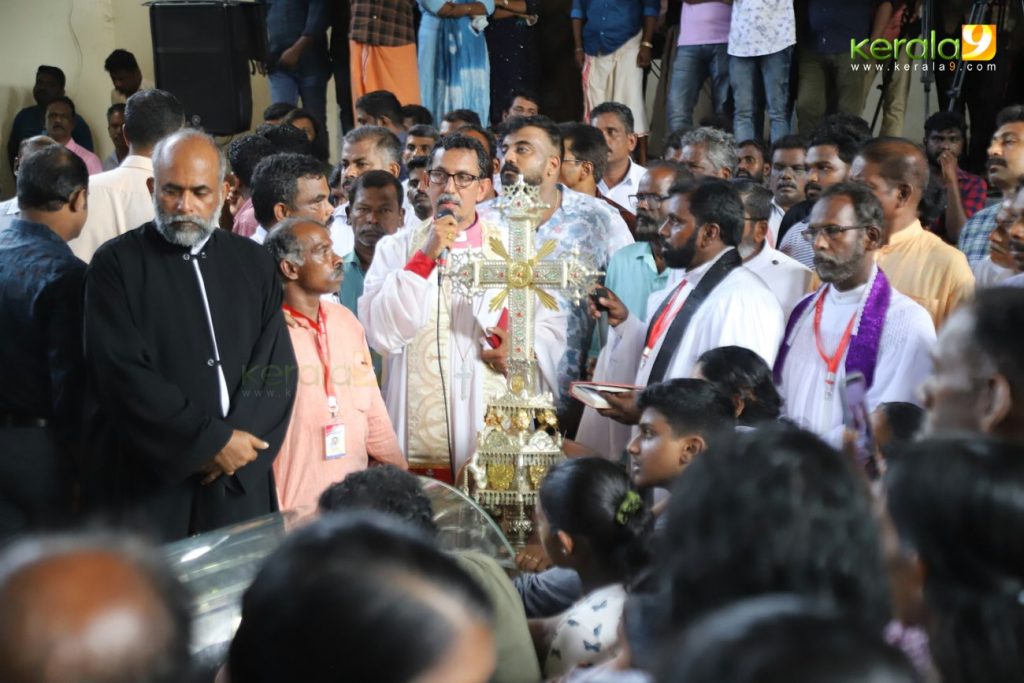
[[[623,468],[603,458],[562,461],[541,482],[541,543],[580,574],[584,593],[562,614],[530,621],[546,680],[617,653],[626,594],[649,564],[651,519]]]

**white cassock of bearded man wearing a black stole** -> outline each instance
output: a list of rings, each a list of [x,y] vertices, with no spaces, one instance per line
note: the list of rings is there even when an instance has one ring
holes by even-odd
[[[670,317],[667,319],[675,318],[689,293],[727,251],[729,250],[682,274],[686,284],[668,310]],[[647,300],[648,321],[653,318],[662,302],[675,291],[676,287],[670,285],[650,295]],[[630,315],[618,327],[611,328],[608,331],[608,341],[597,359],[594,381],[647,386],[654,359],[660,353],[666,339],[663,334],[646,361],[643,361],[647,330],[648,323],[641,321],[638,315]],[[720,346],[749,348],[771,367],[784,330],[785,318],[775,295],[752,271],[743,267],[735,268],[711,291],[690,318],[679,345],[672,352],[672,359],[662,381],[692,377],[697,358],[706,351]],[[632,438],[634,429],[631,425],[602,417],[592,408],[586,408],[577,440],[617,460]]]

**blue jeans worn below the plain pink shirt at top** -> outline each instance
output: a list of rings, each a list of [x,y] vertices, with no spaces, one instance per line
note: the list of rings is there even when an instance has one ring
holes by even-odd
[[[715,114],[723,116],[729,106],[728,45],[680,45],[669,77],[669,131],[693,127],[693,108],[700,87],[711,79]]]

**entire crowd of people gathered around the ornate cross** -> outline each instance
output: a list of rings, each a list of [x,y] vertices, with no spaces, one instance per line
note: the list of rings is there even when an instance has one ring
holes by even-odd
[[[876,136],[838,27],[906,35],[916,4],[810,2],[839,24],[805,52],[792,3],[685,3],[654,158],[659,3],[574,0],[588,103],[558,122],[496,79],[489,32],[527,45],[539,3],[421,0],[414,30],[413,2],[353,0],[334,165],[326,9],[267,4],[278,101],[252,132],[188,127],[123,50],[109,159],[55,68],[15,120],[0,680],[1024,679],[1024,104]],[[718,116],[694,127],[696,76]],[[523,185],[546,258],[602,274],[535,302],[567,457],[509,572],[441,549],[421,477],[465,481],[495,426],[521,311],[450,267],[503,258]],[[150,544],[280,510],[308,521],[195,656]]]

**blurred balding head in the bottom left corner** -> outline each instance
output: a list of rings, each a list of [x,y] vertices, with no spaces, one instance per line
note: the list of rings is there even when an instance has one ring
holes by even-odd
[[[98,539],[16,544],[0,560],[0,680],[182,680],[186,605],[148,549]]]

